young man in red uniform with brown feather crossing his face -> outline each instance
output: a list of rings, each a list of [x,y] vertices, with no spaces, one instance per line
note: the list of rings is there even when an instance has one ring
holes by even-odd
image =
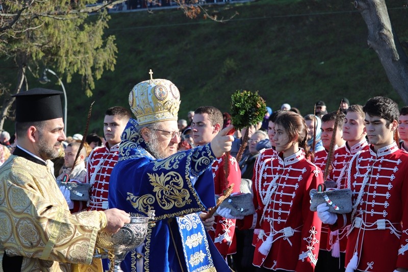
[[[328,154],[328,151],[330,150],[330,143],[331,143],[331,138],[333,137],[335,121],[336,121],[335,111],[326,113],[322,116],[322,127],[321,127],[320,137],[322,139],[324,150],[316,152],[314,163],[321,169],[323,173],[326,169],[327,154]],[[335,135],[335,145],[334,145],[334,150],[332,151],[333,153],[335,152],[335,150],[337,150],[340,147],[343,147],[345,144],[345,141],[343,139],[343,123],[344,123],[344,113],[339,112],[339,120],[337,122],[337,129],[336,129],[336,135]],[[333,153],[332,153],[331,158],[333,158]],[[330,264],[332,263],[330,254],[327,252],[327,249],[326,249],[326,243],[328,242],[328,237],[329,237],[328,233],[329,233],[328,225],[322,224],[322,229],[321,229],[321,234],[320,234],[319,260],[317,261],[316,268],[315,268],[315,271],[317,272],[336,271],[336,270],[327,269],[328,267],[326,266],[327,263],[330,263]],[[336,267],[336,265],[334,265],[333,267]]]

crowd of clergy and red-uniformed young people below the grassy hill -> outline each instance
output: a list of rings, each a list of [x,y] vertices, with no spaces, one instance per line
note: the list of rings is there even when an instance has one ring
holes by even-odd
[[[304,116],[266,107],[230,135],[229,113],[201,106],[181,119],[177,87],[150,79],[130,110],[106,110],[103,137],[66,137],[60,92],[15,97],[16,132],[0,133],[0,270],[107,270],[93,258],[98,233],[155,210],[126,272],[408,271],[408,107],[389,98],[343,97],[332,112],[318,101]],[[233,184],[252,202],[209,213]],[[351,212],[330,199],[311,210],[311,191],[328,184],[351,190]]]

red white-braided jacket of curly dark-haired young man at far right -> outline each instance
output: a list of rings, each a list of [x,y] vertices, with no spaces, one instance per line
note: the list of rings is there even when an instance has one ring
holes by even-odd
[[[338,215],[334,228],[349,225],[346,265],[385,272],[408,267],[408,153],[394,142],[374,152],[357,153],[349,162],[347,186],[353,211]]]

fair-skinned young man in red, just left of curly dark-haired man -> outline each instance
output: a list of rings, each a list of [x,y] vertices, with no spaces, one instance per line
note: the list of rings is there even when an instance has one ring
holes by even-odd
[[[368,150],[364,118],[365,113],[361,105],[348,107],[343,125],[343,139],[346,140],[346,144],[334,152],[331,162],[333,168],[327,178],[327,180],[335,181],[338,189],[346,187],[345,174],[351,157],[358,152]],[[326,261],[322,263],[325,271],[344,271],[348,230],[348,227],[333,232],[328,230],[327,243],[321,245],[324,250],[329,252],[325,258]],[[323,259],[320,257],[320,260]]]

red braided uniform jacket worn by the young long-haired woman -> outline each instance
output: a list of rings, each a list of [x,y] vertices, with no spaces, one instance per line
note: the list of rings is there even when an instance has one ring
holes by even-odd
[[[266,151],[265,151],[266,152]],[[283,159],[260,155],[253,180],[256,213],[237,220],[242,229],[260,228],[253,264],[268,269],[313,271],[321,221],[310,211],[311,189],[323,182],[320,169],[303,150]]]

